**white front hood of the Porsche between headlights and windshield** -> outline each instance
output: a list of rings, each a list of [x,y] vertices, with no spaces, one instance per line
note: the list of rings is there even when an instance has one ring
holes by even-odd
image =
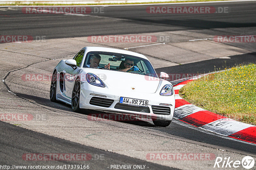
[[[90,70],[89,70],[90,69]],[[147,75],[104,69],[87,68],[87,73],[97,75],[108,88],[125,92],[155,93],[160,79]]]

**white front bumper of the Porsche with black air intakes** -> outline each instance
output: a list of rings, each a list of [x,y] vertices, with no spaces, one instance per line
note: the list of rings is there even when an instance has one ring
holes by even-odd
[[[148,107],[131,106],[120,104],[120,97],[129,97],[135,99],[148,100]],[[96,100],[95,100],[96,99]],[[94,100],[94,102],[92,102]],[[104,104],[106,101],[106,104]],[[112,102],[113,101],[113,102]],[[98,103],[97,103],[98,102]],[[104,106],[100,106],[102,103]],[[110,104],[110,105],[109,105]],[[165,105],[163,105],[165,104]],[[154,109],[152,109],[152,106]],[[140,115],[142,117],[152,117],[157,119],[172,120],[175,106],[174,94],[172,96],[160,96],[156,93],[140,93],[140,92],[119,92],[117,90],[105,89],[102,87],[92,86],[89,83],[81,84],[80,108],[100,110],[112,113],[121,113],[129,115]],[[157,110],[168,110],[169,114],[159,113]],[[95,112],[96,113],[96,112]],[[156,114],[157,113],[157,114]]]

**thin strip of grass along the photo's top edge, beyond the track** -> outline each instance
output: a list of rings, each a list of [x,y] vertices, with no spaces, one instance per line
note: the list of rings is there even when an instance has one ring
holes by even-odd
[[[144,3],[101,3],[101,4],[41,4],[41,3],[32,3],[32,4],[23,4],[24,2],[16,2],[13,4],[0,4],[4,6],[11,6],[11,5],[63,5],[63,6],[71,6],[71,5],[114,5],[114,4],[163,4],[163,3],[181,3],[181,2],[208,2],[208,1],[229,1],[229,0],[192,0],[192,1],[166,1],[166,2],[144,2]]]

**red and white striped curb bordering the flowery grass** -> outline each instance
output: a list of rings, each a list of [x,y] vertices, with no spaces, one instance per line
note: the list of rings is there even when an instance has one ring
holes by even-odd
[[[195,80],[195,78],[183,81],[173,87],[175,92],[175,109],[173,117],[207,131],[256,144],[256,126],[238,122],[208,110],[204,110],[188,103],[179,96],[179,90],[189,81],[193,80]]]

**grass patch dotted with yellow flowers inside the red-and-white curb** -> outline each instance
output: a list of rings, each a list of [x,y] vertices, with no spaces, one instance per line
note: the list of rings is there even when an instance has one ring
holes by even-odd
[[[191,104],[256,125],[256,64],[232,67],[189,82],[180,96]]]

